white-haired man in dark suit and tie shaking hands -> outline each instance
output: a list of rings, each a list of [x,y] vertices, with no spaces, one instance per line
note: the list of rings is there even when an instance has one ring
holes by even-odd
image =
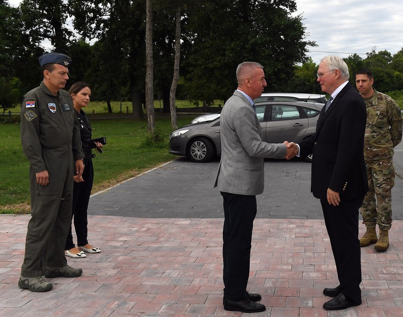
[[[316,133],[298,146],[301,157],[313,155],[311,192],[322,205],[340,282],[323,290],[326,296],[335,297],[323,308],[339,310],[361,304],[358,215],[368,191],[363,150],[366,110],[362,97],[348,82],[349,69],[343,59],[324,57],[317,77],[322,91],[331,96],[322,108]]]

